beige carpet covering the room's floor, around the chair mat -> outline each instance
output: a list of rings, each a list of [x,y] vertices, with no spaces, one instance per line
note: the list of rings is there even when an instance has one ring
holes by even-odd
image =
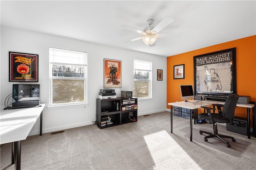
[[[22,141],[22,170],[252,170],[256,169],[256,138],[232,133],[251,144],[235,157],[193,142],[180,131],[188,119],[170,112],[139,116],[138,122],[99,129],[95,125],[66,129],[64,133],[43,133]],[[205,126],[210,129],[209,125]],[[201,128],[201,125],[193,125]],[[226,132],[220,128],[219,132]],[[196,130],[193,131],[194,134]],[[231,133],[231,132],[228,132]],[[196,135],[194,136],[196,137]],[[200,139],[202,139],[200,135]],[[1,146],[0,169],[13,170],[11,144]],[[218,162],[218,163],[216,163]]]

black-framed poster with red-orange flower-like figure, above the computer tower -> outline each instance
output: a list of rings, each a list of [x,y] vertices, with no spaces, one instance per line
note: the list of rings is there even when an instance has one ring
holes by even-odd
[[[9,52],[9,82],[38,82],[38,55]]]

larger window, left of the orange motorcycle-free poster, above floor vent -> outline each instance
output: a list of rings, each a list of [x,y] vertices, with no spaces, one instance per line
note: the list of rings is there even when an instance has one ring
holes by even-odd
[[[50,106],[87,103],[87,53],[50,47]]]

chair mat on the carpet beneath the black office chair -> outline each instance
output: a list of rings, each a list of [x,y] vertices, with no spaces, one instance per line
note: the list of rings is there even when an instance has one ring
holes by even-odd
[[[209,125],[209,127],[212,127],[212,125]],[[247,147],[251,144],[248,141],[244,141],[244,140],[238,139],[238,138],[235,138],[236,142],[232,142],[231,139],[226,139],[226,141],[228,141],[228,143],[231,145],[231,148],[226,147],[226,144],[217,138],[210,138],[210,139],[208,139],[208,142],[205,142],[204,137],[207,136],[207,134],[203,133],[202,135],[200,135],[199,130],[208,131],[208,132],[212,131],[210,129],[205,129],[205,128],[202,128],[202,129],[193,128],[192,140],[194,142],[202,143],[208,147],[220,150],[221,152],[230,154],[235,157],[240,157],[242,155],[242,153],[247,149]],[[189,127],[180,129],[180,131],[186,133],[186,135],[184,135],[184,136],[186,138],[190,139],[190,128]],[[223,134],[223,135],[227,135],[227,134]]]

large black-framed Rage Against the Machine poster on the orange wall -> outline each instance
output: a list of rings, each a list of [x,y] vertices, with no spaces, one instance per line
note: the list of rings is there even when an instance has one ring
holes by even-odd
[[[236,93],[236,48],[194,56],[194,87],[195,95]]]

